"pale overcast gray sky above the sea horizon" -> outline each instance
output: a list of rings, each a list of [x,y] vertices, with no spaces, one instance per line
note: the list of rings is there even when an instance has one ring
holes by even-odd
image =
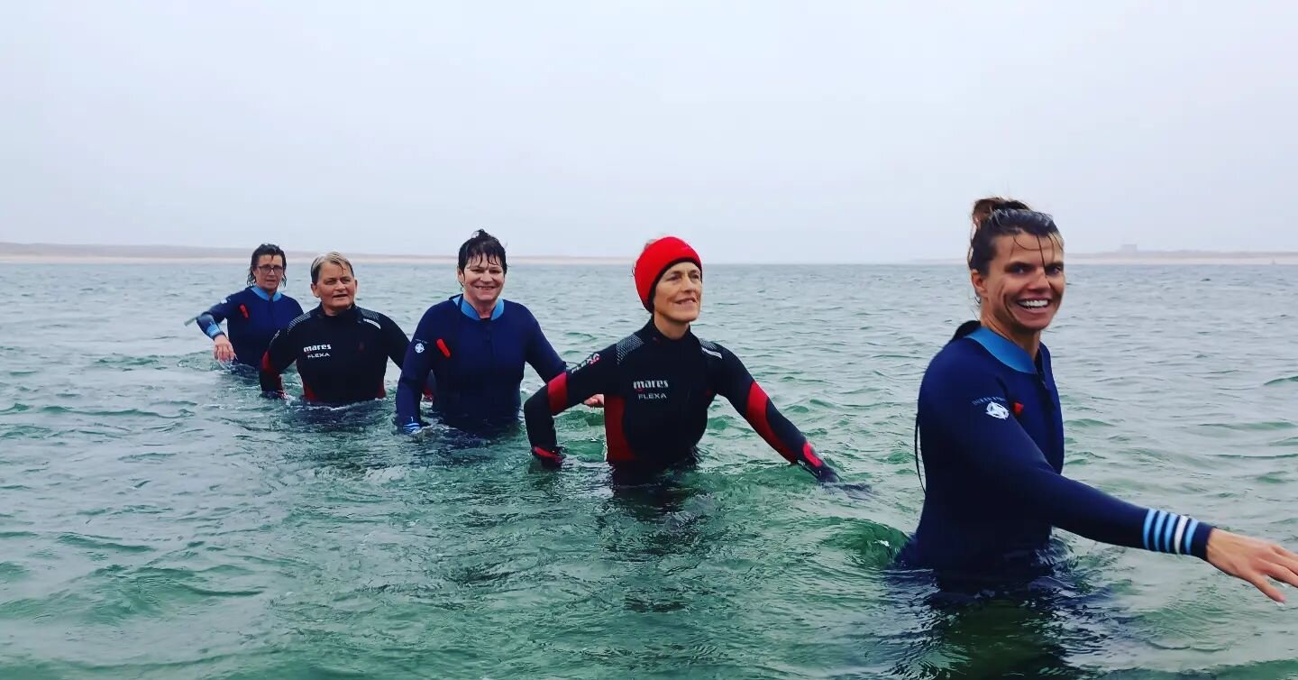
[[[1298,250],[1295,180],[1290,1],[0,3],[0,240]]]

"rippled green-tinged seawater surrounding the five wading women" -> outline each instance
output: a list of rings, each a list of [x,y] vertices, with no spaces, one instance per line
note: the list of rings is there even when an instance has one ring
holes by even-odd
[[[357,276],[408,334],[456,289]],[[263,400],[182,326],[241,280],[0,265],[0,679],[1298,677],[1298,590],[1281,609],[1194,558],[1059,533],[1057,583],[966,606],[890,567],[923,498],[919,380],[972,317],[959,266],[707,270],[696,332],[868,494],[784,465],[724,400],[697,470],[633,488],[597,410],[559,417],[556,474],[520,427],[410,440],[391,397]],[[1298,548],[1298,267],[1070,282],[1046,335],[1066,472]],[[626,266],[518,265],[506,297],[570,362],[644,321]]]

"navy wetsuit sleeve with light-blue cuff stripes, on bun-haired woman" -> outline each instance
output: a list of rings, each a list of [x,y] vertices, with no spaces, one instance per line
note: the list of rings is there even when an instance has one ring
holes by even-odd
[[[922,427],[936,427],[959,443],[951,446],[954,455],[979,472],[970,483],[989,485],[986,493],[1018,498],[1024,513],[1086,539],[1206,557],[1210,524],[1138,507],[1055,472],[1011,415],[1014,405],[994,374],[948,367],[925,376],[925,383],[920,389]]]

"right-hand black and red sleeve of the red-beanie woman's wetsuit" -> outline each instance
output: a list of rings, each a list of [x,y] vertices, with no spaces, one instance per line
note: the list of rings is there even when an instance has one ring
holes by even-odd
[[[720,359],[714,362],[715,367],[713,370],[713,383],[716,393],[729,400],[735,410],[784,459],[807,468],[816,478],[832,475],[832,468],[816,455],[815,449],[802,436],[802,432],[775,407],[771,397],[766,395],[762,385],[744,367],[744,362],[733,352],[723,346],[711,346],[715,348],[714,353],[720,354]]]

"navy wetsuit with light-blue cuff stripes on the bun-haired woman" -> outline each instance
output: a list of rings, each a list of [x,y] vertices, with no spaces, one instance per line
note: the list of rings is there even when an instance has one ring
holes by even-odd
[[[1033,361],[966,323],[924,372],[918,420],[927,489],[903,563],[959,572],[1031,565],[1051,527],[1205,558],[1210,524],[1062,475],[1063,417],[1045,345]]]

